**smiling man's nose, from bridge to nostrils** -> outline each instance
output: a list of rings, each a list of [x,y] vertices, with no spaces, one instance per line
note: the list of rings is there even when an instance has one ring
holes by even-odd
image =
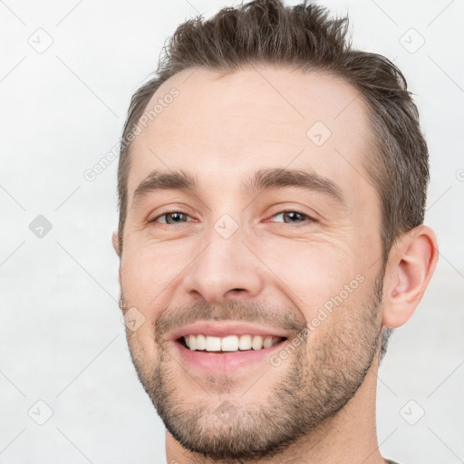
[[[240,229],[228,238],[211,230],[207,245],[186,270],[189,295],[210,304],[255,297],[264,285],[259,260],[242,243]]]

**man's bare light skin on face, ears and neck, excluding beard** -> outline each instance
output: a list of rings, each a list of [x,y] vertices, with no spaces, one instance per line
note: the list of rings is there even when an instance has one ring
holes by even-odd
[[[382,276],[381,212],[377,190],[363,168],[363,161],[372,156],[372,128],[362,98],[349,83],[324,73],[260,66],[219,78],[205,69],[178,73],[163,83],[148,108],[173,87],[179,97],[133,141],[121,255],[117,233],[112,237],[121,256],[121,308],[135,306],[145,318],[136,332],[126,330],[140,380],[150,382],[164,353],[170,384],[185,411],[200,404],[211,418],[224,401],[231,401],[237,411],[272,409],[268,392],[285,382],[297,354],[278,368],[261,363],[252,372],[218,370],[202,376],[186,372],[169,343],[157,338],[156,322],[194,304],[226,308],[255,303],[259,314],[268,312],[270,320],[280,321],[272,318],[277,308],[311,324],[328,299],[362,275],[362,285],[296,352],[308,367],[318,366],[314,353],[324,345],[330,348],[333,340],[335,372],[350,356],[368,368],[361,386],[332,417],[259,462],[384,462],[375,430],[380,338],[372,332],[365,346],[350,345],[347,334],[362,331],[364,320],[378,333],[405,324],[430,281],[438,248],[430,227],[402,235],[391,248],[382,304],[375,311],[375,279]],[[332,132],[319,147],[306,136],[315,121],[323,121]],[[244,179],[263,168],[315,172],[339,187],[344,204],[295,187],[259,195],[241,189]],[[133,208],[134,190],[152,169],[189,172],[197,180],[197,192],[151,192]],[[149,222],[176,210],[187,213],[189,220]],[[301,211],[315,220],[287,223],[279,215],[284,210]],[[237,223],[228,238],[214,227],[226,214]],[[335,342],[337,334],[345,344]],[[369,343],[375,347],[372,362],[366,354]],[[314,379],[304,377],[303,382]],[[184,448],[169,431],[166,453],[169,463],[219,462]]]

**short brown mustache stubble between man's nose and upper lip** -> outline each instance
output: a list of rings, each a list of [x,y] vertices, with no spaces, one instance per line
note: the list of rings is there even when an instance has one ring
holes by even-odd
[[[227,320],[261,324],[294,333],[300,333],[306,327],[303,314],[288,307],[245,301],[229,301],[224,304],[198,301],[189,307],[166,308],[162,311],[153,323],[155,340],[162,342],[167,333],[187,324]]]

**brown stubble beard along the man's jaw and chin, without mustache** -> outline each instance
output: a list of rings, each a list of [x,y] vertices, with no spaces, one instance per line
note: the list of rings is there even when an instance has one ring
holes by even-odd
[[[367,303],[360,308],[347,305],[337,308],[335,311],[349,314],[343,318],[343,324],[335,326],[328,322],[330,325],[317,343],[312,343],[313,336],[307,337],[282,362],[285,375],[279,374],[280,379],[271,384],[266,398],[261,395],[245,407],[243,397],[228,394],[243,388],[234,390],[233,379],[227,377],[215,381],[215,391],[218,385],[222,386],[220,393],[211,396],[205,390],[204,400],[189,401],[189,392],[176,388],[179,382],[175,368],[179,372],[179,366],[169,355],[166,343],[158,343],[153,366],[147,362],[150,356],[135,337],[126,333],[132,362],[144,390],[167,430],[185,449],[216,460],[256,460],[274,456],[308,436],[353,398],[379,350],[381,307],[379,276]],[[269,372],[256,384],[272,382],[274,369],[270,365]]]

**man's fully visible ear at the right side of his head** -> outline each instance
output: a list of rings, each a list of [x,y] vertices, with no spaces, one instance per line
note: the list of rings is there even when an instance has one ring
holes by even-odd
[[[439,257],[437,238],[421,225],[405,233],[391,248],[383,292],[386,327],[405,324],[414,314]]]

